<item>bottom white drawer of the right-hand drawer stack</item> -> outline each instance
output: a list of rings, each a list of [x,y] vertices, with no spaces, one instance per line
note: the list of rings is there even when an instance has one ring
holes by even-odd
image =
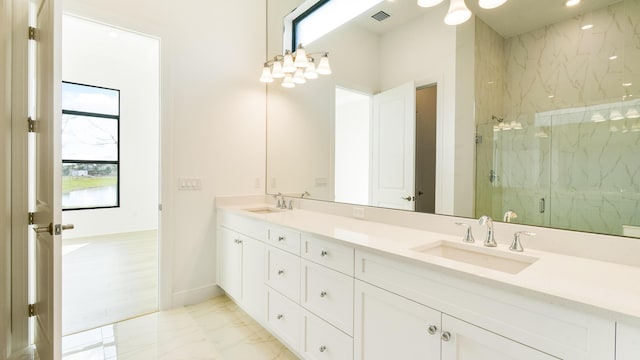
[[[353,359],[353,338],[302,310],[300,352],[305,359]]]

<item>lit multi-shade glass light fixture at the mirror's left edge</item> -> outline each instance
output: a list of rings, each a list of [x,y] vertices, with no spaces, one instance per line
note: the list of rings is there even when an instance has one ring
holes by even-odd
[[[320,56],[317,67],[314,55]],[[329,74],[329,53],[323,51],[308,54],[300,44],[293,53],[287,50],[284,55],[276,55],[273,59],[267,60],[262,68],[260,81],[272,83],[274,79],[283,79],[283,87],[294,88],[296,85],[305,84],[307,80],[317,79],[318,75]]]

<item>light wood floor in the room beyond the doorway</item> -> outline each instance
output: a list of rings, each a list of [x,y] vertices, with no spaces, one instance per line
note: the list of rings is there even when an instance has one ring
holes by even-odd
[[[157,309],[156,231],[63,239],[64,335]]]

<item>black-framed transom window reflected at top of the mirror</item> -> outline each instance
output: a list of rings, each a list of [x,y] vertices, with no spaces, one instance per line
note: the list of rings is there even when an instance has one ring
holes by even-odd
[[[291,44],[292,51],[298,44],[307,46],[382,1],[306,1],[285,17],[285,44]]]

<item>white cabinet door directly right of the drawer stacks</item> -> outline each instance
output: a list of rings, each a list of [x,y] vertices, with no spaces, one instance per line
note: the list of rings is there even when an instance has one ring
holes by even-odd
[[[440,359],[440,312],[358,280],[355,299],[354,359]]]

